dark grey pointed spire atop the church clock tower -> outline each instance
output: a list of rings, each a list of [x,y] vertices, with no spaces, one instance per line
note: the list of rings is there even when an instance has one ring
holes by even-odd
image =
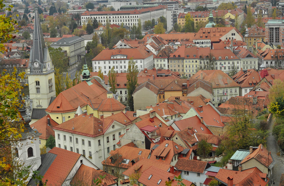
[[[38,61],[43,63],[43,49],[45,48],[41,21],[38,14],[38,7],[35,6],[35,22],[33,30],[33,48],[30,54],[30,62]]]

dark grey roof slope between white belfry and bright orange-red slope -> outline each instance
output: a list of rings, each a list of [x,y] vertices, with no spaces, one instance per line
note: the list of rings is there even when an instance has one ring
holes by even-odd
[[[57,154],[52,154],[49,152],[41,155],[41,166],[38,168],[38,175],[43,176],[46,173],[56,156]],[[37,184],[35,183],[35,180],[30,179],[28,185],[36,186]]]

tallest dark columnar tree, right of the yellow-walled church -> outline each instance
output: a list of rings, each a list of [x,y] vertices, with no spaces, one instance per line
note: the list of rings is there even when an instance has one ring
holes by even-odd
[[[128,102],[130,111],[134,111],[134,102],[133,102],[132,94],[137,86],[138,72],[139,72],[138,67],[135,61],[133,61],[133,58],[130,58],[128,62],[128,69],[127,69],[127,75],[126,75],[126,79],[128,81],[127,82],[127,91],[128,91],[127,92],[128,94],[127,102]]]

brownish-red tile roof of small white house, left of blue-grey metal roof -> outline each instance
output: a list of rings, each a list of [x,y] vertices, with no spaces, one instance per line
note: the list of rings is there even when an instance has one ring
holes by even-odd
[[[175,168],[178,170],[185,170],[190,172],[197,172],[203,174],[205,169],[210,167],[207,161],[199,161],[193,159],[179,158],[175,164]]]

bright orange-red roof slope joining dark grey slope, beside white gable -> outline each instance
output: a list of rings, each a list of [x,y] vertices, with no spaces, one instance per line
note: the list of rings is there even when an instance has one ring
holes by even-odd
[[[62,185],[81,154],[57,147],[51,149],[49,153],[56,154],[57,156],[43,175],[43,180],[48,180],[48,185]],[[68,157],[68,161],[66,161],[66,157]]]

